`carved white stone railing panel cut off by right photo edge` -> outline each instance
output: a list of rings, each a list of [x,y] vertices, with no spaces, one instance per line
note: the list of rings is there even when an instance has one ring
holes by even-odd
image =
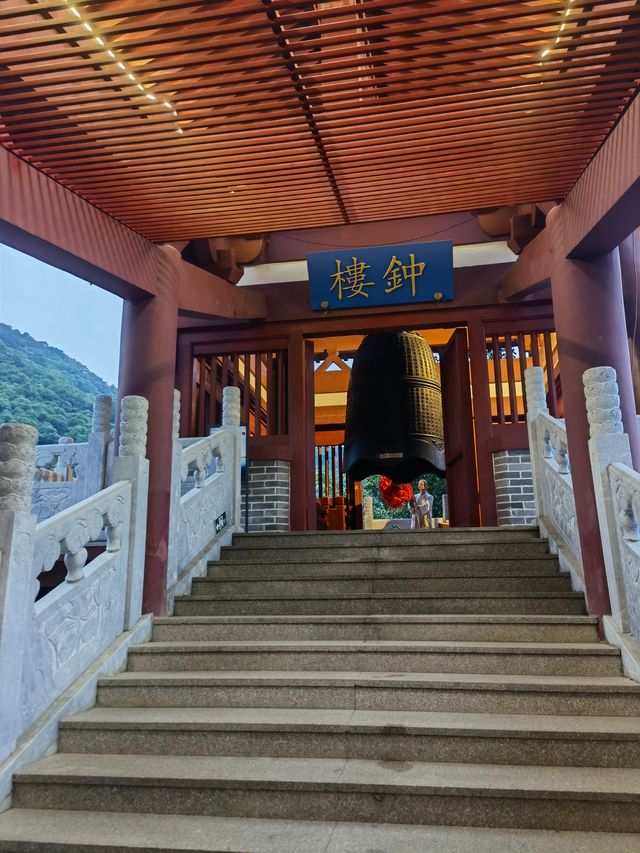
[[[612,464],[609,482],[628,629],[640,642],[640,474],[627,465]]]

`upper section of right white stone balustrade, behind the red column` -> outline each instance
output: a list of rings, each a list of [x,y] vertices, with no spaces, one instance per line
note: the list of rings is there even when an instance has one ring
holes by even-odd
[[[557,552],[575,589],[583,590],[582,555],[576,521],[564,421],[549,415],[541,367],[525,370],[527,427],[536,514],[543,536]]]

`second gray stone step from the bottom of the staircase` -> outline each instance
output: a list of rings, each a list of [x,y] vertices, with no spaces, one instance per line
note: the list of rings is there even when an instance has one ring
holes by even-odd
[[[17,808],[640,832],[635,769],[76,755],[14,777]]]

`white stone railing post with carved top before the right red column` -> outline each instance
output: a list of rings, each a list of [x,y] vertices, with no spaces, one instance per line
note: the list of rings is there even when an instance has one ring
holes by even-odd
[[[593,367],[583,374],[589,420],[589,458],[598,511],[598,525],[604,557],[611,615],[620,629],[629,631],[629,613],[618,545],[616,518],[609,465],[619,462],[633,467],[629,437],[622,428],[618,383],[613,367]]]

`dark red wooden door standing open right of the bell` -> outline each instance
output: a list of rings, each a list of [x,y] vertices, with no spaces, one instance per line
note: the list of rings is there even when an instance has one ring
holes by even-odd
[[[478,527],[478,478],[467,330],[456,329],[440,361],[449,523]]]

